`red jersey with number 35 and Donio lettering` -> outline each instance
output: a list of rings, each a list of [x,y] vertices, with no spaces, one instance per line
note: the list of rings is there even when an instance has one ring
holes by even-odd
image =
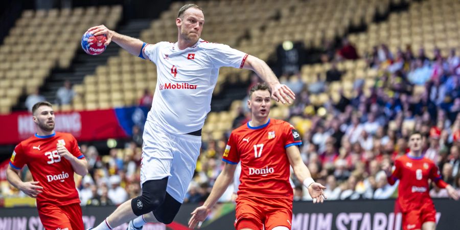
[[[77,158],[84,158],[72,134],[56,132],[48,136],[35,134],[22,141],[14,148],[10,159],[11,167],[19,170],[27,165],[34,181],[40,182],[43,192],[37,196],[39,205],[47,202],[59,205],[80,203],[74,169],[67,159],[59,156],[56,150],[58,143]]]

